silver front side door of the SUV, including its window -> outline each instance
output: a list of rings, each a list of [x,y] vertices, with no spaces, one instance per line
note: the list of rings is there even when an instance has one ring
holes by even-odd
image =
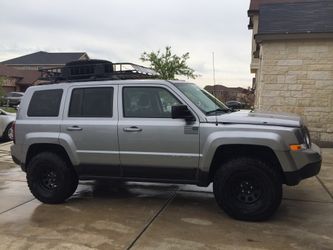
[[[194,180],[199,163],[199,122],[171,118],[182,103],[162,86],[122,86],[119,153],[125,177]]]

